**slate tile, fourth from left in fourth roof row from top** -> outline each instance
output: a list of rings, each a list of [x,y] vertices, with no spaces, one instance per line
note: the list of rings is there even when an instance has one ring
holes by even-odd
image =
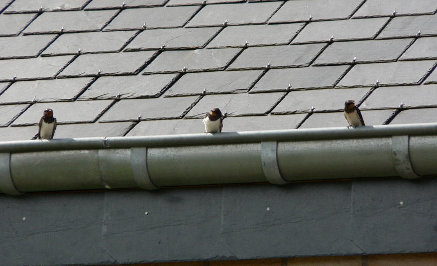
[[[325,44],[250,47],[232,63],[230,69],[307,66]]]

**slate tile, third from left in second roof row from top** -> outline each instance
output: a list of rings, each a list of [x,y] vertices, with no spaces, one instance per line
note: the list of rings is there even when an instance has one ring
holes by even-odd
[[[199,7],[160,7],[123,10],[105,30],[182,27]]]

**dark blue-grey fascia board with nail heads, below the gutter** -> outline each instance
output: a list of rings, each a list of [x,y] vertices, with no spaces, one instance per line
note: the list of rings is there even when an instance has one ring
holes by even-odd
[[[0,264],[436,251],[436,195],[432,178],[2,194]]]

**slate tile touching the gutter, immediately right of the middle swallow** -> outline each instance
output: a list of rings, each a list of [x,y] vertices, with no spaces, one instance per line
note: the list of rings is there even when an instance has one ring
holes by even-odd
[[[254,131],[293,129],[305,118],[306,114],[261,115],[227,117],[223,121],[223,131]]]

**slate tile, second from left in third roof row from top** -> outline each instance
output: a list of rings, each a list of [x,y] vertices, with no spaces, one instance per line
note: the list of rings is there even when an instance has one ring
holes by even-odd
[[[83,53],[118,52],[133,35],[134,32],[131,31],[62,34],[42,55],[75,54],[79,49]]]

